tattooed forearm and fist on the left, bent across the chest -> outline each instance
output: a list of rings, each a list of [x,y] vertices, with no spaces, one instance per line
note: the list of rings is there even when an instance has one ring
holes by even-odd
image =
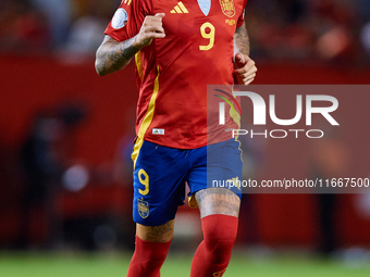
[[[163,16],[164,13],[146,16],[140,32],[125,41],[120,42],[106,36],[96,54],[95,68],[97,73],[104,76],[121,71],[140,49],[149,46],[156,38],[164,38]]]

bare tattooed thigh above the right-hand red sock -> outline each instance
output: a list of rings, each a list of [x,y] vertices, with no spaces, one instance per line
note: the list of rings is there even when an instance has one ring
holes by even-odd
[[[225,214],[238,217],[240,198],[227,188],[207,188],[195,193],[200,217]]]

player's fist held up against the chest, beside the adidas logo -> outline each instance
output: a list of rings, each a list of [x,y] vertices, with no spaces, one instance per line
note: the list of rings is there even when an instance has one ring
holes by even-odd
[[[141,49],[151,43],[155,38],[164,38],[164,29],[162,26],[162,18],[164,13],[157,13],[156,15],[147,15],[143,22],[140,32],[136,35],[133,46]]]

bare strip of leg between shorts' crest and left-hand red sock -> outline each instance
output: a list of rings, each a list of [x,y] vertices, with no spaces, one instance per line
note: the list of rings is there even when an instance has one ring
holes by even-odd
[[[168,242],[173,238],[175,219],[160,226],[145,226],[136,224],[136,236],[151,242]]]

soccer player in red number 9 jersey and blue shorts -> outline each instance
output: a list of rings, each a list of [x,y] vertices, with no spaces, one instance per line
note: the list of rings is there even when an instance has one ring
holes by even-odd
[[[245,5],[246,0],[123,0],[107,27],[97,51],[98,74],[120,71],[135,56],[139,88],[133,151],[136,248],[128,277],[160,276],[185,184],[203,231],[190,277],[220,277],[226,270],[240,191],[207,186],[207,173],[240,177],[240,150],[226,133],[207,143],[207,85],[232,85],[234,76],[248,85],[256,76]]]

